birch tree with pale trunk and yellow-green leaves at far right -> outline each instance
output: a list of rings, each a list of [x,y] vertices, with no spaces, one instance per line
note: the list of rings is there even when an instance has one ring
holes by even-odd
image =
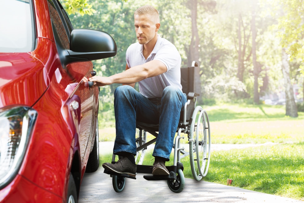
[[[304,60],[304,2],[302,0],[277,0],[275,3],[278,5],[277,10],[280,14],[277,29],[278,37],[281,38],[282,45],[282,73],[285,83],[286,115],[298,117],[289,75],[289,63],[293,60]]]

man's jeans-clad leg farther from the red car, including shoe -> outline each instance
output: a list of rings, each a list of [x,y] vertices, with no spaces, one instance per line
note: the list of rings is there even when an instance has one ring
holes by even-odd
[[[164,167],[164,162],[170,159],[180,112],[186,102],[187,97],[180,89],[173,86],[164,89],[161,98],[159,133],[152,154],[155,157],[153,175],[169,173]]]

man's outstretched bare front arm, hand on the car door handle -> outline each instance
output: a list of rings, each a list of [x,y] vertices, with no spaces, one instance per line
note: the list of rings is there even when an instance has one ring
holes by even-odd
[[[158,60],[149,61],[143,65],[137,65],[126,71],[111,75],[109,77],[93,76],[89,81],[96,82],[97,86],[105,86],[113,83],[133,84],[143,79],[160,75],[167,71],[167,67],[163,62]],[[95,83],[94,83],[95,85]]]

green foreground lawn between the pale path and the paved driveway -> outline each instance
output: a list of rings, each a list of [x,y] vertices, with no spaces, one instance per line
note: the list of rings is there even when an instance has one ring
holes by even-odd
[[[304,142],[212,153],[204,180],[301,199],[304,197]]]

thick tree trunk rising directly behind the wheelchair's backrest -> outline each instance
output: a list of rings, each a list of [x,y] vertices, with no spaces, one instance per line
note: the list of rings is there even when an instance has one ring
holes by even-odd
[[[199,31],[197,29],[197,0],[190,0],[191,22],[192,22],[192,39],[189,47],[190,57],[188,65],[191,66],[192,61],[199,63]],[[195,69],[194,75],[194,91],[201,94],[201,79],[199,74],[200,68]],[[200,97],[202,98],[202,97]]]

